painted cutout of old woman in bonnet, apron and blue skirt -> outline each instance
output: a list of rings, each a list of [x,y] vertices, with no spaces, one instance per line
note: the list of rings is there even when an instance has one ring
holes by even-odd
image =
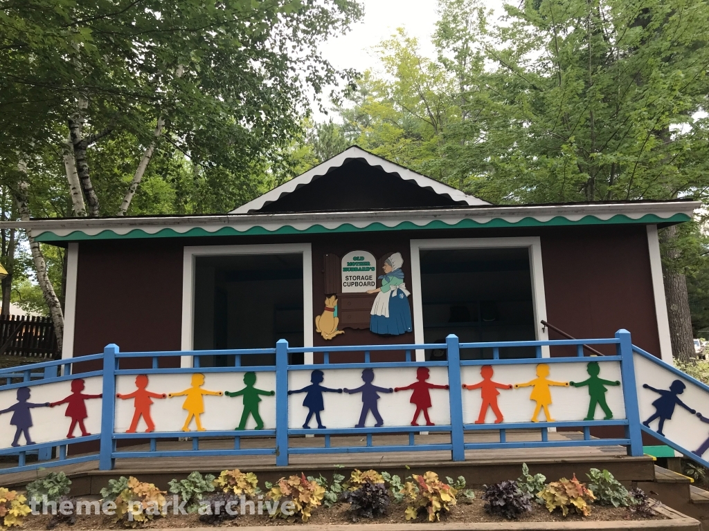
[[[381,287],[367,292],[377,294],[370,312],[369,330],[380,336],[399,336],[412,330],[411,307],[408,305],[411,293],[403,283],[402,265],[401,253],[386,258],[384,275],[379,277]]]

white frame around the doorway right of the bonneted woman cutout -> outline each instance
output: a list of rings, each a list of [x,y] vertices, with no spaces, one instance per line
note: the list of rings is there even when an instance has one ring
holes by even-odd
[[[413,297],[413,335],[415,343],[423,343],[423,304],[421,302],[421,249],[484,249],[496,247],[526,247],[532,275],[532,304],[534,306],[535,337],[547,341],[549,335],[540,321],[547,320],[547,299],[542,269],[542,242],[539,236],[518,238],[457,238],[411,240],[411,295]],[[416,361],[424,361],[423,350],[416,350]],[[549,358],[549,347],[542,347],[542,356]]]

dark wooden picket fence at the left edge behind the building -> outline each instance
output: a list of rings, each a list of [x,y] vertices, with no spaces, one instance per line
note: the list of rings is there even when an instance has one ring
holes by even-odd
[[[0,355],[57,358],[59,348],[52,318],[0,315]]]

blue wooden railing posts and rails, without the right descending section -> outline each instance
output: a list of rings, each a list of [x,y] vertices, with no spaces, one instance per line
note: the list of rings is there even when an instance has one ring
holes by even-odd
[[[584,355],[584,345],[609,345],[615,349],[615,355],[588,358]],[[464,423],[463,396],[461,372],[463,367],[479,365],[525,365],[537,364],[542,360],[542,350],[545,347],[575,347],[575,354],[561,358],[543,358],[544,363],[555,364],[559,362],[576,363],[615,362],[620,365],[620,372],[623,383],[623,399],[625,402],[625,418],[599,421],[552,421],[552,422],[523,422],[523,423],[501,423],[501,424],[469,424]],[[535,358],[513,358],[501,359],[500,349],[534,348]],[[416,350],[440,349],[445,350],[445,361],[415,361]],[[489,349],[492,351],[492,359],[485,360],[461,360],[461,351],[469,349]],[[396,350],[405,353],[405,361],[401,362],[372,362],[372,353]],[[488,350],[488,352],[489,352]],[[481,352],[482,350],[479,350]],[[103,404],[101,413],[101,434],[91,435],[87,438],[76,438],[72,440],[57,440],[40,445],[22,447],[22,450],[8,449],[0,450],[0,455],[18,454],[18,467],[11,469],[0,469],[0,473],[15,472],[23,469],[36,467],[57,466],[72,462],[82,462],[90,459],[99,459],[101,469],[113,469],[115,459],[140,458],[140,457],[188,457],[188,456],[224,456],[224,455],[274,455],[277,466],[289,464],[289,455],[302,454],[325,454],[325,453],[352,453],[352,452],[409,452],[409,451],[430,451],[443,450],[450,451],[454,461],[465,459],[466,450],[491,449],[491,448],[520,448],[520,447],[558,447],[558,446],[600,446],[600,445],[623,445],[627,447],[629,455],[642,455],[642,432],[640,419],[638,418],[637,391],[635,389],[635,374],[633,369],[633,347],[630,341],[630,333],[618,331],[614,338],[607,339],[584,339],[584,340],[562,340],[562,341],[513,341],[513,342],[491,342],[491,343],[459,343],[457,336],[448,336],[446,343],[420,344],[420,345],[372,345],[372,346],[341,346],[341,347],[289,347],[287,341],[280,340],[276,348],[262,348],[250,350],[196,350],[196,351],[163,351],[163,352],[128,352],[122,353],[118,346],[109,345],[104,349],[103,354],[72,358],[70,360],[60,360],[33,365],[32,369],[44,369],[55,367],[60,369],[54,375],[48,374],[41,380],[24,379],[23,382],[9,385],[0,385],[0,390],[13,387],[26,386],[28,384],[42,384],[50,382],[62,382],[75,378],[86,378],[101,376],[103,379]],[[291,365],[289,356],[296,353],[313,353],[322,355],[323,361],[308,365]],[[339,353],[363,353],[364,362],[338,363]],[[233,358],[233,365],[230,367],[203,367],[201,360],[206,356],[229,356]],[[246,366],[242,365],[245,357],[254,355],[274,355],[275,365]],[[189,356],[192,367],[160,367],[160,358],[181,358]],[[122,368],[122,360],[131,358],[141,358],[151,360],[150,368],[133,369]],[[77,372],[75,365],[79,363],[101,360],[102,370],[91,370],[90,372]],[[289,375],[303,370],[345,370],[345,369],[365,369],[365,368],[401,368],[401,367],[445,367],[447,370],[448,391],[450,408],[450,423],[436,426],[382,426],[379,428],[291,428],[289,427]],[[13,373],[25,374],[27,367],[20,370],[13,369]],[[73,372],[72,372],[73,371]],[[125,375],[169,375],[169,374],[191,374],[200,373],[229,373],[229,372],[270,372],[275,375],[275,401],[276,401],[276,426],[274,429],[264,430],[211,430],[204,432],[153,432],[153,433],[116,433],[116,378]],[[74,374],[76,372],[76,374]],[[9,374],[9,371],[8,371]],[[4,371],[0,371],[0,381],[4,377]],[[597,439],[591,437],[591,427],[593,426],[623,426],[625,435],[622,438]],[[581,440],[549,440],[548,432],[552,428],[578,427],[583,432]],[[539,440],[508,441],[508,430],[535,430],[540,433]],[[498,442],[466,442],[465,433],[476,430],[496,430],[498,432]],[[450,434],[450,440],[444,442],[417,442],[415,433],[421,431],[432,433]],[[408,444],[397,445],[375,445],[373,436],[381,434],[407,434]],[[303,445],[303,435],[323,435],[323,438],[306,438]],[[332,445],[333,435],[359,435],[366,439],[365,445]],[[258,436],[268,437],[272,440],[269,447],[242,447],[244,438]],[[297,445],[291,445],[298,438]],[[175,440],[177,438],[191,439],[191,450],[159,450],[157,443],[160,440]],[[231,438],[233,447],[228,449],[201,449],[200,442],[205,438]],[[66,457],[66,445],[76,442],[89,442],[99,440],[100,450],[98,455],[82,455],[79,457]],[[140,440],[149,442],[147,450],[129,450],[118,447],[119,441],[128,442],[130,440]],[[310,441],[313,441],[310,444]],[[419,440],[420,441],[420,440]],[[318,442],[316,445],[315,443]],[[46,460],[46,455],[40,455],[40,461],[33,464],[26,464],[24,455],[31,450],[58,447],[59,459]]]

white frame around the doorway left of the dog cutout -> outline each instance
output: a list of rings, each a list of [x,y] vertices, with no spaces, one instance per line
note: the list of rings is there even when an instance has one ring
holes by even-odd
[[[287,254],[303,255],[303,346],[313,346],[313,257],[311,244],[272,245],[206,245],[184,248],[182,265],[182,346],[181,350],[194,348],[194,259],[196,256],[235,254]],[[313,363],[313,353],[306,353],[306,364]],[[192,359],[182,356],[182,367],[191,367]]]

